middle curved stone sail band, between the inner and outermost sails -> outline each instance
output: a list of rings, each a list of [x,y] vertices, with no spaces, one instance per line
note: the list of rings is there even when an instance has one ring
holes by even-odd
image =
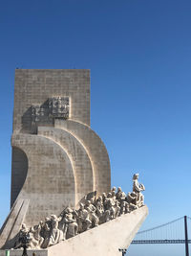
[[[88,151],[69,131],[59,128],[38,128],[38,135],[58,143],[69,155],[73,164],[75,177],[75,202],[90,191],[94,191],[93,166]],[[74,206],[74,205],[73,205]]]

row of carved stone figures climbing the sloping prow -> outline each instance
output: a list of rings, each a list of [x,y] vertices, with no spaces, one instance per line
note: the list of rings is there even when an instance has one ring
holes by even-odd
[[[136,174],[133,176],[133,192],[127,195],[120,187],[113,187],[107,195],[103,193],[96,198],[96,194],[93,193],[92,198],[85,198],[78,210],[67,207],[59,217],[52,215],[31,228],[23,223],[14,248],[47,248],[99,224],[128,214],[144,205],[141,193],[144,190],[144,185],[138,183]]]

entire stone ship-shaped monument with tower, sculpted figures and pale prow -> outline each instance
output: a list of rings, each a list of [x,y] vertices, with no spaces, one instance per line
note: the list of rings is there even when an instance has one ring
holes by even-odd
[[[128,195],[111,189],[107,150],[90,128],[89,70],[16,69],[11,146],[2,249],[118,255],[131,243],[147,215],[144,186],[137,174]]]

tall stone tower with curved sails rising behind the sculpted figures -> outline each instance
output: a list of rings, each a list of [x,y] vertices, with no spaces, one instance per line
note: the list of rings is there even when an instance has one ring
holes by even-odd
[[[90,71],[16,69],[11,146],[11,206],[29,199],[28,225],[108,192],[108,153],[90,128]]]

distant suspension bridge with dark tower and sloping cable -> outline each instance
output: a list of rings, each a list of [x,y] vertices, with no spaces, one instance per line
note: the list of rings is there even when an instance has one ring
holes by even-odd
[[[174,221],[138,232],[132,244],[185,244],[185,256],[189,256],[191,244],[191,218],[180,217]],[[120,249],[125,255],[126,249]]]

